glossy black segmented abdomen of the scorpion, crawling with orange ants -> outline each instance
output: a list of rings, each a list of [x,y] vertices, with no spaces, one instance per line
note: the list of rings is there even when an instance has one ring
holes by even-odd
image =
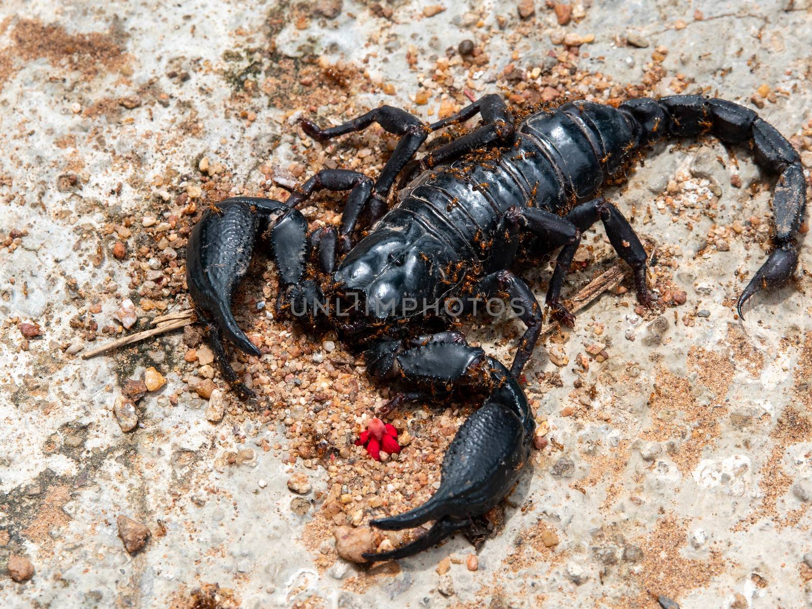
[[[510,146],[427,171],[382,220],[417,220],[457,259],[485,259],[505,212],[529,204],[563,213],[590,199],[631,148],[633,121],[611,106],[576,101],[531,114]]]

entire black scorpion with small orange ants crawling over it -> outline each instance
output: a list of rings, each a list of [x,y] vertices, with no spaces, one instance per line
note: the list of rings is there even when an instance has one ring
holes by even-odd
[[[480,127],[412,161],[430,132],[477,113]],[[574,322],[561,300],[564,277],[582,232],[597,221],[633,269],[637,299],[651,302],[640,239],[614,205],[597,197],[635,151],[666,136],[706,133],[729,144],[749,143],[762,169],[778,175],[773,249],[738,299],[739,315],[748,298],[784,285],[797,266],[795,240],[806,206],[800,159],[774,127],[741,105],[693,95],[634,99],[619,108],[575,101],[514,120],[499,96],[488,95],[431,124],[384,105],[337,127],[320,129],[306,120],[302,127],[324,141],[373,122],[401,136],[377,180],[347,169],[323,169],[296,188],[287,204],[228,199],[203,214],[187,250],[188,287],[198,316],[224,375],[244,397],[250,392],[235,382],[221,335],[248,354],[260,354],[235,324],[231,295],[261,238],[279,266],[277,309],[311,321],[325,318],[345,337],[364,341],[369,374],[400,389],[388,408],[437,401],[460,388],[464,394],[458,396],[469,401],[479,396],[484,404],[451,442],[433,497],[411,512],[373,521],[384,529],[434,521],[430,531],[369,559],[413,554],[469,525],[508,494],[529,457],[535,426],[517,380],[538,340],[542,309],[511,270],[520,238],[529,235],[547,251],[561,247],[546,304],[564,324]],[[404,187],[387,210],[387,196],[401,173]],[[328,227],[308,234],[296,206],[322,188],[350,194],[337,231]],[[353,245],[362,213],[369,229]],[[309,268],[311,254],[326,276],[323,281],[309,274],[315,273]],[[510,371],[458,332],[409,337],[423,332],[426,320],[447,322],[447,310],[438,302],[454,298],[462,303],[459,314],[472,312],[477,299],[510,298],[526,327]],[[412,307],[414,301],[421,306]]]

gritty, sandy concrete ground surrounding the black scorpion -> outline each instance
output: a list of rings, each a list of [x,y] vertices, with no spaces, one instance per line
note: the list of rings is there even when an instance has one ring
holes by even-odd
[[[274,178],[330,164],[374,174],[394,143],[371,129],[322,148],[302,115],[704,92],[758,109],[812,165],[808,2],[521,5],[2,3],[3,607],[812,607],[812,255],[736,318],[770,233],[771,181],[746,149],[662,145],[610,191],[657,248],[662,306],[604,294],[538,346],[525,387],[546,446],[478,550],[459,536],[400,564],[336,555],[336,526],[425,500],[469,411],[396,414],[412,444],[370,461],[352,439],[387,388],[334,336],[274,319],[264,262],[237,307],[266,348],[239,363],[254,410],[192,327],[81,358],[188,307],[185,242],[208,204],[283,197]],[[314,200],[311,225],[339,200]],[[578,260],[568,292],[613,264],[602,229]],[[550,268],[529,273],[540,296]],[[515,321],[473,326],[510,361]],[[127,410],[149,368],[165,384]],[[132,555],[121,516],[132,543],[149,530]]]

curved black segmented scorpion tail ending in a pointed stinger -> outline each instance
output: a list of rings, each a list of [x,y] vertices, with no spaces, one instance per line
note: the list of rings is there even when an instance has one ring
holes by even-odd
[[[749,143],[758,165],[777,175],[772,210],[775,221],[773,250],[736,302],[741,307],[762,289],[785,285],[798,264],[796,238],[806,209],[806,180],[801,157],[770,123],[754,110],[732,101],[699,95],[648,97],[627,101],[620,111],[632,119],[638,144],[650,144],[662,135],[695,137],[710,133],[728,144]]]

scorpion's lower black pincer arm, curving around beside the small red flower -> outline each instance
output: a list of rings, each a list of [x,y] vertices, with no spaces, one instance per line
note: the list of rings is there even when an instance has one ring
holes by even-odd
[[[366,355],[369,371],[381,380],[410,386],[465,387],[484,394],[484,405],[457,431],[443,458],[440,487],[418,508],[371,522],[384,530],[410,529],[427,521],[424,536],[395,550],[369,553],[367,560],[404,558],[468,526],[511,491],[528,460],[535,422],[516,379],[482,349],[448,337],[447,332],[414,346],[382,341]]]

